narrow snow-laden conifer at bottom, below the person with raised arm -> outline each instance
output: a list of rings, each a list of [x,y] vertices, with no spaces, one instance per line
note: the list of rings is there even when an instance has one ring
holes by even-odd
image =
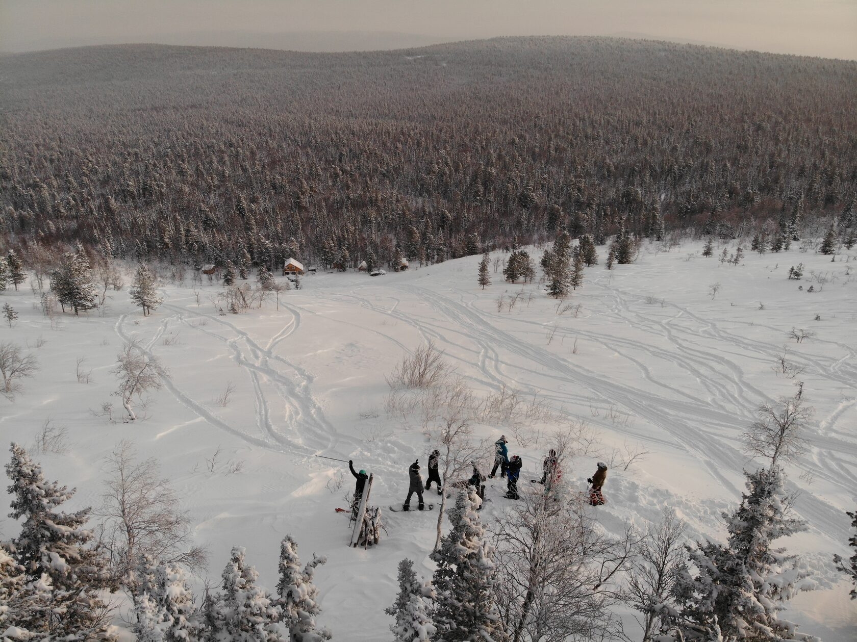
[[[292,639],[305,642],[320,642],[331,639],[327,629],[316,630],[315,615],[321,613],[316,602],[318,588],[313,583],[315,567],[324,564],[325,557],[316,557],[301,568],[297,556],[297,543],[286,535],[279,545],[279,582],[277,583],[277,606],[282,611],[282,621],[289,628]],[[298,636],[300,635],[300,637]]]

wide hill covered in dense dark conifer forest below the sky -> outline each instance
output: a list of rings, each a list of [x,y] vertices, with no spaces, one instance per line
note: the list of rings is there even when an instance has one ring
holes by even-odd
[[[857,182],[857,63],[662,42],[42,51],[0,57],[0,110],[22,248],[439,261],[560,225],[847,227]]]

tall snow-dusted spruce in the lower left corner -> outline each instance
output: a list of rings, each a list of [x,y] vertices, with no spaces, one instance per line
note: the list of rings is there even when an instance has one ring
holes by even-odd
[[[53,639],[116,639],[107,618],[109,609],[99,597],[109,585],[107,561],[99,549],[87,545],[93,531],[83,527],[92,509],[58,512],[75,490],[45,481],[41,466],[18,444],[13,443],[10,451],[9,517],[23,518],[21,533],[12,542],[13,559],[23,567],[27,581],[41,587],[48,602],[45,617],[33,632],[49,633]]]

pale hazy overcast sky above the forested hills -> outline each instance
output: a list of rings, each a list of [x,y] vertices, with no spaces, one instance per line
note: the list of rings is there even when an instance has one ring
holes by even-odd
[[[536,34],[857,59],[857,0],[0,0],[3,51],[129,42],[329,51]]]

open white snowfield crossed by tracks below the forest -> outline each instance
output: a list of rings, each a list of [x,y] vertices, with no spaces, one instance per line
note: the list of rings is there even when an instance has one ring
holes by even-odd
[[[738,505],[742,470],[755,465],[741,452],[740,436],[759,403],[794,394],[797,380],[771,369],[786,345],[788,359],[806,366],[798,379],[815,414],[811,447],[787,466],[809,531],[781,543],[802,555],[819,583],[788,615],[828,642],[853,640],[857,603],[848,601],[831,556],[847,552],[844,511],[857,501],[857,252],[836,262],[812,250],[747,252],[733,267],[703,258],[698,243],[669,252],[656,251],[659,245],[645,243],[631,266],[588,268],[561,314],[542,285],[506,284],[493,267],[494,283],[482,291],[479,256],[379,278],[309,275],[301,290],[280,297],[279,309],[272,301],[246,315],[215,311],[209,297],[222,290],[216,284],[200,286],[197,303],[188,281],[164,284],[165,303],[149,317],[133,307],[126,287],[112,292],[108,309],[61,315],[52,328],[29,287],[7,290],[0,302],[20,319],[0,327],[0,339],[28,345],[40,370],[14,402],[0,399],[0,436],[29,447],[47,419],[65,426],[67,452],[38,459],[47,477],[77,487],[73,507],[99,504],[105,456],[118,441],[134,440],[142,458],[159,459],[183,496],[196,541],[210,544],[212,579],[229,549],[242,545],[261,584],[273,589],[279,541],[291,533],[304,560],[313,551],[328,557],[315,580],[319,622],[334,639],[390,639],[392,620],[382,609],[397,590],[396,566],[408,556],[430,573],[436,509],[387,512],[378,547],[349,549],[348,519],[333,509],[346,506],[353,478],[347,465],[315,455],[354,459],[375,473],[371,503],[386,508],[404,500],[408,465],[419,458],[425,472],[433,448],[423,429],[385,411],[385,375],[408,351],[433,340],[479,395],[505,385],[561,417],[520,426],[518,441],[513,426],[476,427],[479,437],[509,438],[510,454],[524,459],[522,486],[540,476],[550,432],[585,422],[599,451],[575,459],[571,470],[566,464],[563,477],[584,489],[596,460],[614,459],[609,503],[591,509],[606,529],[618,532],[629,520],[644,527],[668,506],[692,537],[723,538],[720,513]],[[537,261],[538,251],[533,255]],[[804,279],[788,280],[799,262]],[[715,283],[722,287],[712,298]],[[815,291],[807,292],[810,285]],[[514,309],[498,312],[501,294],[508,301],[521,290]],[[792,327],[816,335],[798,344],[787,339]],[[44,345],[36,347],[39,337]],[[145,418],[110,423],[92,411],[112,401],[121,416],[109,371],[130,337],[159,357],[168,378],[138,413]],[[79,357],[93,370],[88,384],[76,380]],[[235,392],[219,405],[229,381]],[[626,448],[639,447],[648,455],[623,470]],[[489,483],[494,501],[482,519],[502,517],[502,492],[504,485]],[[0,519],[0,536],[14,537],[17,528]]]

